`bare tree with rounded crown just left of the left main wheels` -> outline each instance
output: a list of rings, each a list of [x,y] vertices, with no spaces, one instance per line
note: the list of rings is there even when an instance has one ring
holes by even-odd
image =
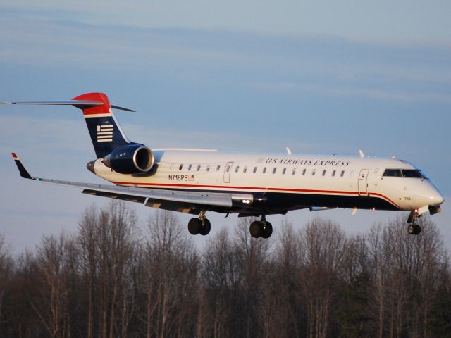
[[[142,292],[146,337],[183,337],[194,330],[199,258],[174,213],[157,211],[148,222]]]

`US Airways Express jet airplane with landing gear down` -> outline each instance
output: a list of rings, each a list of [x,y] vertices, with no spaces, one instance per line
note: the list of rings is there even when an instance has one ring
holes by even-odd
[[[254,238],[271,237],[267,215],[288,211],[352,208],[409,211],[409,234],[419,234],[418,218],[440,212],[443,196],[412,163],[398,158],[310,154],[233,154],[214,149],[151,149],[131,142],[103,93],[68,101],[2,102],[70,105],[80,108],[97,158],[87,169],[112,184],[89,184],[32,177],[15,153],[22,177],[82,189],[82,193],[134,201],[144,206],[196,215],[190,234],[209,234],[206,212],[255,216]]]

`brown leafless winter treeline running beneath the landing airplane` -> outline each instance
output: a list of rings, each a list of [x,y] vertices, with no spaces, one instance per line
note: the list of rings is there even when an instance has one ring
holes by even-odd
[[[347,236],[317,219],[252,239],[249,219],[196,249],[174,213],[115,202],[13,257],[0,242],[0,337],[451,337],[438,228]]]

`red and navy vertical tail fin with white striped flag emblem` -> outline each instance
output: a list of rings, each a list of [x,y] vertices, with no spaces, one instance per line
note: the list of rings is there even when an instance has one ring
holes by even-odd
[[[108,97],[103,93],[88,93],[74,97],[76,101],[97,101],[99,106],[78,106],[85,117],[87,130],[91,137],[97,158],[105,157],[114,149],[133,144],[125,136],[121,126],[114,117]],[[113,106],[114,108],[121,108]],[[125,109],[125,108],[123,108]],[[126,109],[130,111],[129,109]]]

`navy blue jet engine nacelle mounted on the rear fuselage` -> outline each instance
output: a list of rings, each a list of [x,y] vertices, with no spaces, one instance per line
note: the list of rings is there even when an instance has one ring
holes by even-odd
[[[147,173],[154,161],[152,150],[142,144],[121,146],[104,157],[104,165],[121,174]]]

